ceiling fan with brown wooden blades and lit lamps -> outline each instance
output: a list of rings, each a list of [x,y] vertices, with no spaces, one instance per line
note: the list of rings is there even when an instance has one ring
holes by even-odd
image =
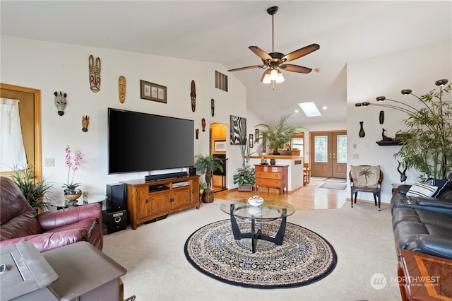
[[[283,73],[281,73],[280,69],[298,72],[298,73],[309,73],[312,71],[311,68],[307,68],[304,66],[298,66],[294,64],[285,64],[287,61],[293,61],[294,59],[299,59],[300,57],[304,57],[311,52],[316,51],[320,48],[318,44],[311,44],[309,46],[300,48],[295,50],[294,52],[290,52],[290,54],[282,54],[280,52],[275,52],[275,28],[273,18],[275,13],[278,11],[278,6],[272,6],[267,9],[267,13],[271,16],[271,51],[270,53],[264,52],[261,48],[257,46],[248,47],[254,54],[262,59],[262,65],[254,65],[247,66],[242,68],[230,69],[228,71],[241,71],[246,69],[254,69],[261,68],[266,69],[263,73],[261,82],[263,83],[271,83],[271,81],[276,81],[276,83],[281,83],[284,81]]]

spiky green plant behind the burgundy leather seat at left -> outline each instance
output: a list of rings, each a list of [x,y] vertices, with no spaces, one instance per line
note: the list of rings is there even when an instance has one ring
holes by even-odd
[[[54,199],[47,194],[53,184],[47,184],[44,180],[37,181],[32,168],[14,166],[13,172],[11,179],[37,213],[48,211],[54,206]]]

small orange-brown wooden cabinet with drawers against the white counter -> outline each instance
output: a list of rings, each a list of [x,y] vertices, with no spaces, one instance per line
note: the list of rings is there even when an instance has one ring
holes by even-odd
[[[280,193],[287,190],[287,170],[289,165],[254,165],[256,187],[278,188]]]

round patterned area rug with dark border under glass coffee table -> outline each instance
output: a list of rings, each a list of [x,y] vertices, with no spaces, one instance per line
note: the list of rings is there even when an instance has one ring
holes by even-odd
[[[274,236],[280,223],[264,223],[262,232]],[[251,232],[251,223],[239,223]],[[337,256],[323,237],[287,223],[283,244],[251,239],[234,240],[231,221],[220,220],[196,230],[185,243],[186,259],[199,271],[219,281],[247,288],[294,288],[326,277]]]

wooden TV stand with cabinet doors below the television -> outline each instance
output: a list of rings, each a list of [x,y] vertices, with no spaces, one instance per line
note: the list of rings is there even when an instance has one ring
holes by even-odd
[[[188,185],[177,187],[180,182],[188,182]],[[133,230],[142,223],[169,213],[200,207],[198,175],[149,182],[136,179],[121,183],[127,187],[127,210]]]

